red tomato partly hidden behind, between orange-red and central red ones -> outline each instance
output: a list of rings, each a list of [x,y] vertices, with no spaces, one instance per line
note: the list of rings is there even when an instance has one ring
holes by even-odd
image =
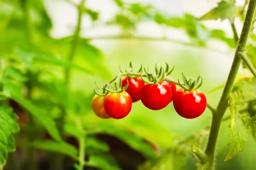
[[[144,82],[140,77],[137,78],[129,78],[125,77],[122,79],[122,88],[127,85],[128,80],[128,88],[125,90],[132,99],[132,102],[137,102],[140,100],[140,88],[144,85]]]

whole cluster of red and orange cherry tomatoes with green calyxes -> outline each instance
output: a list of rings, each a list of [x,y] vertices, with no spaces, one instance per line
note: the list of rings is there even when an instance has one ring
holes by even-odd
[[[173,101],[175,111],[186,119],[194,119],[204,113],[207,106],[206,97],[198,90],[202,84],[201,76],[187,80],[182,74],[184,83],[181,84],[178,80],[181,88],[177,90],[176,85],[169,82],[169,74],[166,74],[162,67],[159,71],[156,69],[155,74],[145,70],[146,76],[142,76],[141,71],[141,76],[128,73],[131,76],[123,79],[116,77],[114,88],[107,82],[102,94],[95,91],[91,106],[97,116],[102,119],[125,118],[131,111],[132,103],[139,100],[146,108],[154,111],[165,108]],[[143,77],[147,77],[148,80]]]

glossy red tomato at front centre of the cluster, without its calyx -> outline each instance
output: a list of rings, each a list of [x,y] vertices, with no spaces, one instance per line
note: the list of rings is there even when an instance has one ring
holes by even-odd
[[[166,82],[144,84],[140,89],[140,99],[145,107],[157,111],[165,108],[172,99],[172,91]]]

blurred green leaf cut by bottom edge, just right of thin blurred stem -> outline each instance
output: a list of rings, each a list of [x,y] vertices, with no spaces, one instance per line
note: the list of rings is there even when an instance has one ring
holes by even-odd
[[[115,165],[109,164],[105,159],[102,159],[101,156],[90,156],[87,164],[99,170],[121,170]]]

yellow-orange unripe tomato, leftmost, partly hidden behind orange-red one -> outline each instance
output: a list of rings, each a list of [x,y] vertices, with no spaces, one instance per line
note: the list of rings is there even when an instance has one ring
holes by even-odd
[[[98,96],[97,94],[93,96],[92,99],[92,109],[93,112],[100,118],[102,119],[108,119],[111,118],[110,116],[108,116],[108,114],[105,112],[104,109],[104,96]]]

